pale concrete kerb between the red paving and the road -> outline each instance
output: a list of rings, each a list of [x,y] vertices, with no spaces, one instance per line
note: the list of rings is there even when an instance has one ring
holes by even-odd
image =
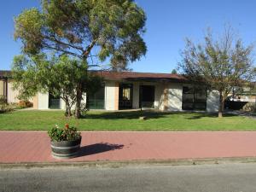
[[[127,166],[196,166],[218,165],[231,163],[256,163],[256,157],[228,157],[213,159],[184,159],[184,160],[126,160],[126,161],[84,161],[84,162],[29,162],[29,163],[0,163],[0,170],[32,169],[32,168],[120,168]]]

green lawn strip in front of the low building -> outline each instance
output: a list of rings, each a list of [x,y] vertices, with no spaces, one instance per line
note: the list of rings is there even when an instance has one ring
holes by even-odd
[[[226,115],[218,119],[205,113],[138,111],[86,113],[83,119],[67,119],[62,111],[15,111],[0,114],[0,131],[47,131],[51,126],[75,125],[83,131],[256,131],[256,119]]]

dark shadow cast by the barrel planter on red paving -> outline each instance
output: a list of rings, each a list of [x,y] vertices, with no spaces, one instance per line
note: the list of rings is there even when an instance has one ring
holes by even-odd
[[[112,151],[116,149],[124,148],[123,144],[111,144],[111,143],[96,143],[91,145],[86,145],[80,148],[79,157],[90,155],[90,154],[100,154],[107,151]]]

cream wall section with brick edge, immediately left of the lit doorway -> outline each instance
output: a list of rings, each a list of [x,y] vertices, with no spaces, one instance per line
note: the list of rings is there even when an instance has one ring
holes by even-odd
[[[105,83],[105,108],[106,110],[118,110],[119,87],[116,82]]]

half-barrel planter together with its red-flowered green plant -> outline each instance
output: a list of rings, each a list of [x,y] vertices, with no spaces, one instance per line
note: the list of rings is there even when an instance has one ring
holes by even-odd
[[[79,155],[81,133],[76,127],[68,124],[60,128],[58,125],[48,131],[53,157],[57,159],[70,159]]]

